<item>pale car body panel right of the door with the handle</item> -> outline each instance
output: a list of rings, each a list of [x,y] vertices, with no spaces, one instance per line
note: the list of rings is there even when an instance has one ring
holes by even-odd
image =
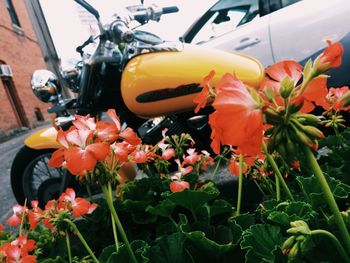
[[[340,41],[345,53],[341,68],[330,72],[330,85],[350,83],[350,1],[281,0],[282,8],[270,14],[274,60],[305,63],[327,47],[326,40]],[[295,2],[295,0],[294,0]]]

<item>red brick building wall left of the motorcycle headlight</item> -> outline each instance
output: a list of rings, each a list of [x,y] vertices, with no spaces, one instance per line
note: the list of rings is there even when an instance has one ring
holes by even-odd
[[[12,25],[5,2],[0,1],[0,62],[12,69],[12,81],[15,85],[29,127],[38,124],[35,108],[39,108],[45,120],[49,120],[48,104],[40,102],[30,88],[30,78],[34,70],[46,68],[39,43],[33,31],[25,2],[12,0],[21,24],[18,30]],[[0,81],[0,131],[19,128],[5,87]]]

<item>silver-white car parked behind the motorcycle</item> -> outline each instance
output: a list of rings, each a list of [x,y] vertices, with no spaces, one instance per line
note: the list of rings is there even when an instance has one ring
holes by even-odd
[[[183,41],[238,51],[267,67],[316,57],[326,40],[344,46],[343,64],[329,86],[350,85],[350,0],[220,0],[184,34]]]

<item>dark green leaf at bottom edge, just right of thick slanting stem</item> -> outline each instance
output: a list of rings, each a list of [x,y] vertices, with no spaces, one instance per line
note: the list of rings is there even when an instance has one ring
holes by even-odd
[[[190,263],[191,255],[184,247],[186,236],[181,232],[165,235],[156,239],[156,244],[151,247],[150,262],[157,263]]]

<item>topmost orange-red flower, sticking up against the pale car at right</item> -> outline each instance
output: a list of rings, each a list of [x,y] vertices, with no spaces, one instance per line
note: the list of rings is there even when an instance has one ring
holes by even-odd
[[[337,68],[341,65],[344,48],[339,42],[332,43],[327,40],[328,47],[315,60],[315,68],[319,72],[327,71],[330,68]]]

